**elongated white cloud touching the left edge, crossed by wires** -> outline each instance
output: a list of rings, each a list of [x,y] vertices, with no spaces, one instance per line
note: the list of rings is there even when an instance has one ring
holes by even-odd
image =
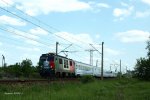
[[[0,24],[8,24],[8,25],[14,25],[14,26],[25,26],[26,25],[25,22],[23,22],[19,19],[13,18],[13,17],[6,16],[6,15],[0,16]]]

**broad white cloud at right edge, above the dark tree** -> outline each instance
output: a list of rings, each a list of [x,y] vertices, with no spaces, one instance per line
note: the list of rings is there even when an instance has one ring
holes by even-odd
[[[149,36],[150,32],[142,30],[129,30],[116,34],[116,37],[123,43],[145,42]]]

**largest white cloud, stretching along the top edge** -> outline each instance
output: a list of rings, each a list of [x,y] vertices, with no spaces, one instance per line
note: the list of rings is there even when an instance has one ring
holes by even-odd
[[[88,3],[79,0],[14,0],[14,2],[17,3],[18,9],[32,16],[91,9]]]

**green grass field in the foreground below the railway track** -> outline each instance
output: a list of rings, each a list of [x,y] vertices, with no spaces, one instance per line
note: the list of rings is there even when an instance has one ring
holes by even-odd
[[[135,79],[0,84],[0,100],[150,100],[150,82]]]

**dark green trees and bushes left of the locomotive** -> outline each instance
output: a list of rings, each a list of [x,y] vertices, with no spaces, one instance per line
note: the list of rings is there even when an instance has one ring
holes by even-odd
[[[21,63],[0,67],[0,79],[7,78],[40,78],[40,67],[33,66],[29,59]]]

